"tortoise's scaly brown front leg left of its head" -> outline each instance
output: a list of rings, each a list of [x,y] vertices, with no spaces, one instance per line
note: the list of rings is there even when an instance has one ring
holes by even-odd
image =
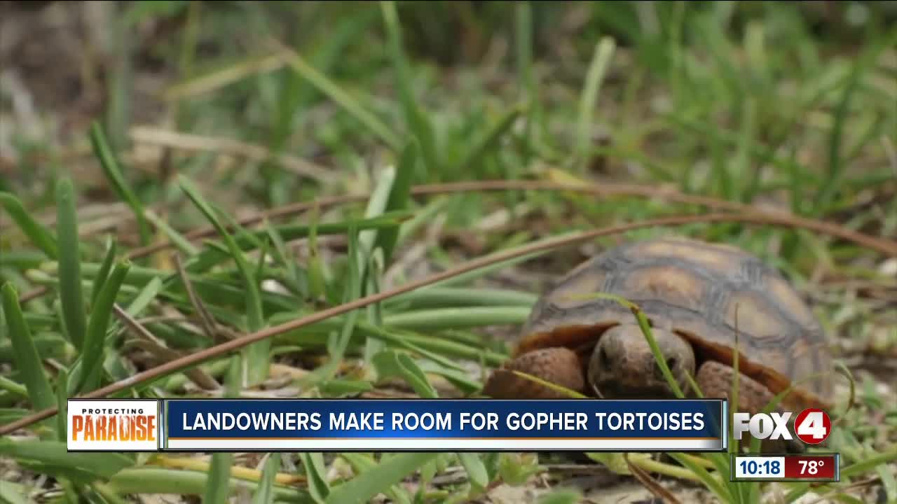
[[[570,398],[559,391],[510,371],[521,371],[544,381],[583,392],[583,377],[579,356],[568,348],[553,347],[524,353],[495,369],[483,387],[483,394],[493,399],[561,399]]]

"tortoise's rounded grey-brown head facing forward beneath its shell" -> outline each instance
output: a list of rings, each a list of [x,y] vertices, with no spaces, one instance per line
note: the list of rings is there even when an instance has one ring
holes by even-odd
[[[679,387],[687,390],[686,376],[693,376],[695,369],[692,345],[663,329],[652,328],[651,334]],[[601,335],[588,361],[588,384],[608,399],[675,396],[645,335],[634,324],[613,326]]]

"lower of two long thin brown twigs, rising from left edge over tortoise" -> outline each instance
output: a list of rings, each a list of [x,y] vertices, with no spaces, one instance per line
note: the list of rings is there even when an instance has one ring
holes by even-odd
[[[651,219],[643,222],[632,222],[629,224],[621,224],[617,226],[611,226],[607,228],[601,228],[598,230],[589,230],[582,231],[579,233],[575,233],[571,236],[561,237],[557,239],[544,240],[537,243],[532,243],[524,247],[513,248],[498,254],[494,254],[492,256],[485,256],[474,259],[472,261],[467,261],[461,265],[458,265],[455,268],[452,268],[448,271],[444,271],[439,274],[432,274],[421,280],[417,280],[415,282],[409,282],[400,287],[396,287],[395,289],[389,291],[379,292],[377,294],[371,294],[370,296],[365,296],[358,300],[353,300],[348,303],[344,303],[339,306],[335,306],[332,308],[327,308],[317,313],[311,314],[306,317],[301,317],[296,320],[292,320],[290,322],[283,323],[279,326],[267,327],[257,333],[252,333],[250,335],[244,335],[237,339],[231,340],[229,342],[221,343],[219,345],[213,346],[211,348],[207,348],[201,352],[192,353],[190,355],[186,355],[181,357],[175,361],[166,362],[161,366],[157,366],[152,369],[146,369],[140,373],[135,374],[131,378],[126,378],[124,380],[115,382],[106,387],[99,388],[94,390],[93,392],[83,395],[83,398],[88,399],[96,399],[100,397],[104,397],[109,394],[114,394],[119,392],[127,387],[135,386],[136,384],[143,383],[145,381],[152,380],[154,378],[160,378],[161,376],[167,375],[172,372],[176,372],[179,369],[187,368],[188,366],[199,364],[203,361],[208,361],[214,357],[221,356],[228,352],[233,352],[235,350],[239,350],[244,346],[247,346],[252,343],[256,343],[258,341],[264,340],[266,338],[272,337],[274,335],[281,335],[288,331],[292,331],[293,329],[297,329],[302,326],[309,326],[310,324],[314,324],[316,322],[320,322],[329,317],[335,317],[337,315],[342,315],[346,312],[352,311],[354,309],[363,308],[372,303],[380,302],[382,300],[386,300],[393,296],[397,296],[399,294],[404,294],[408,291],[414,291],[415,289],[419,289],[421,287],[430,285],[431,283],[440,282],[442,280],[446,280],[448,278],[457,276],[458,274],[464,274],[466,272],[487,266],[494,265],[496,263],[500,263],[502,261],[507,261],[509,259],[519,257],[519,256],[527,256],[529,254],[533,254],[536,252],[542,252],[545,250],[550,250],[553,248],[561,248],[566,247],[575,243],[579,243],[581,241],[585,241],[588,239],[596,239],[602,236],[608,236],[612,234],[618,234],[625,231],[630,230],[638,230],[643,228],[655,227],[655,226],[672,226],[672,225],[683,225],[683,224],[691,224],[697,222],[745,222],[751,224],[766,224],[766,225],[791,225],[793,222],[790,218],[781,215],[736,215],[736,214],[727,214],[727,213],[710,213],[707,215],[680,215],[674,217],[664,217],[660,219]],[[54,414],[57,413],[57,408],[48,408],[39,413],[31,414],[25,418],[22,418],[18,421],[13,421],[4,426],[0,426],[0,436],[8,435],[12,433],[14,430],[22,429],[23,427],[27,427],[30,424],[44,420]]]

